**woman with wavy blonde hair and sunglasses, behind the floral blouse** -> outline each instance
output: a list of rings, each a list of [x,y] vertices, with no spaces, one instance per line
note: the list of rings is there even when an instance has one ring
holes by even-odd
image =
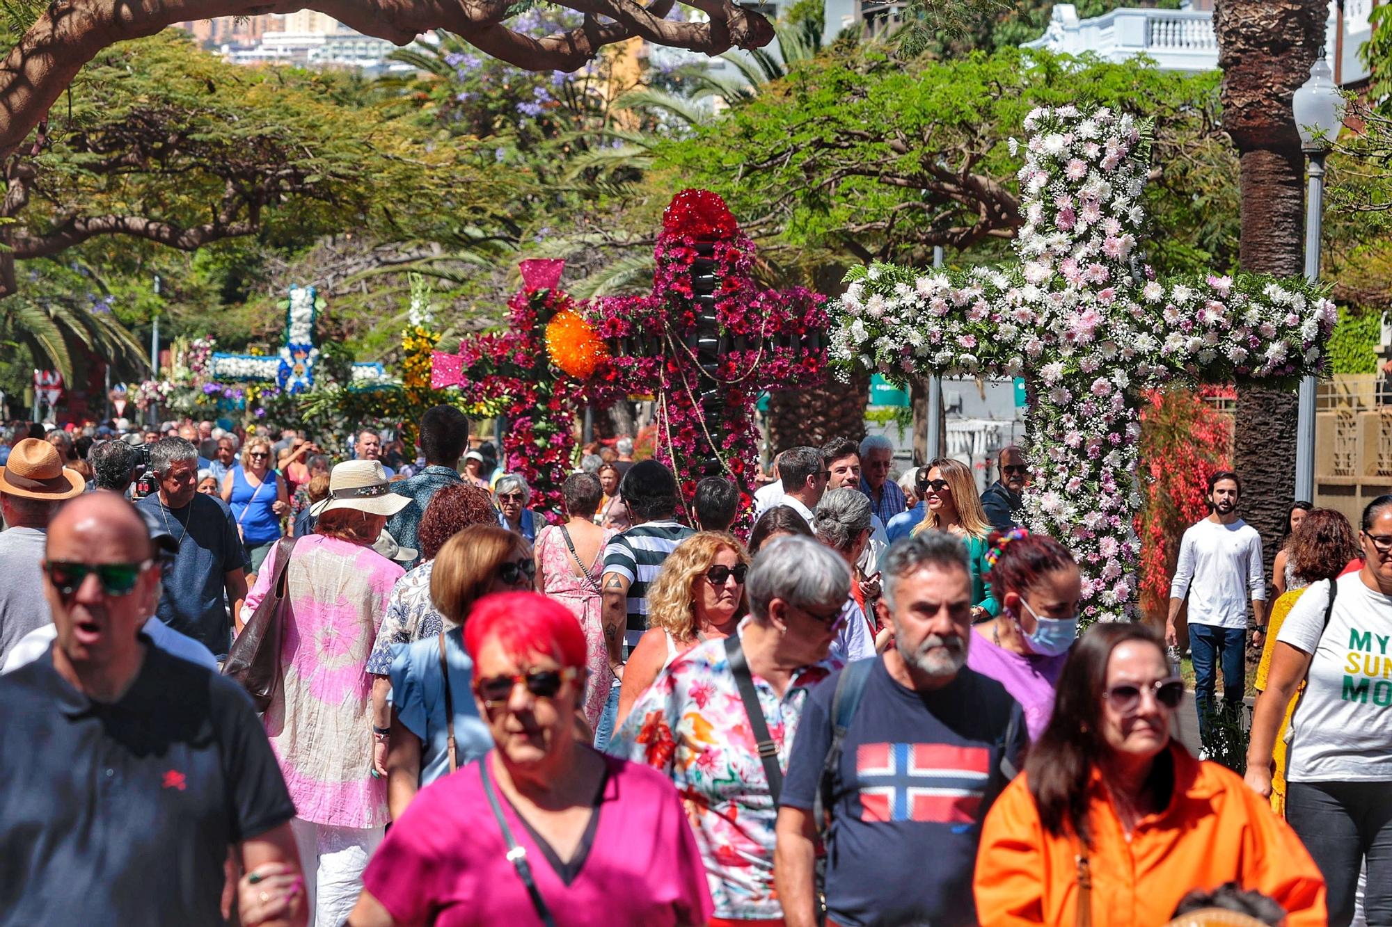
[[[749,551],[727,532],[692,534],[667,555],[647,589],[647,631],[624,667],[615,728],[672,660],[699,643],[735,633],[749,611],[748,572]]]

